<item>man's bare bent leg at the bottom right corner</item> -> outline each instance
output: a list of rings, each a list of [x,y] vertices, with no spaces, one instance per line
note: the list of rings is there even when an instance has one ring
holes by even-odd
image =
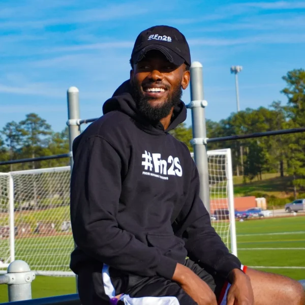
[[[251,280],[255,305],[305,304],[305,293],[297,281],[251,268],[246,273]]]

